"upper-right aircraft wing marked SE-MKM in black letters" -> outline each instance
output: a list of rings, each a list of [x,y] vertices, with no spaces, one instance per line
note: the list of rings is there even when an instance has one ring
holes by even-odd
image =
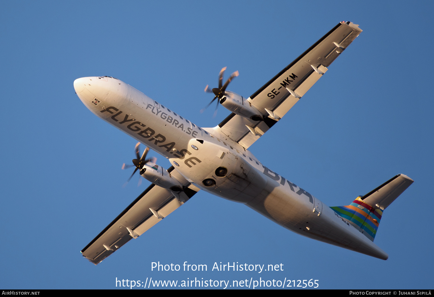
[[[361,32],[358,25],[351,22],[337,24],[251,95],[247,101],[262,112],[264,121],[253,121],[232,113],[212,129],[247,149],[299,101]]]

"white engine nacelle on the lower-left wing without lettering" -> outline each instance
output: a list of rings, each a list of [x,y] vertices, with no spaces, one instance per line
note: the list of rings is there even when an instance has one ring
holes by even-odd
[[[182,191],[182,183],[175,179],[163,167],[155,163],[146,163],[140,170],[140,175],[164,189],[170,189],[175,193]]]

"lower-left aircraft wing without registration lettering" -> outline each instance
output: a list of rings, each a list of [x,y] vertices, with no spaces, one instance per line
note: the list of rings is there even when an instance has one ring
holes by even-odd
[[[174,170],[173,166],[168,169],[168,172],[178,180],[184,180],[178,171],[172,170]],[[130,239],[137,238],[145,233],[199,191],[197,187],[190,183],[183,186],[185,187],[184,192],[181,192],[178,196],[180,196],[179,200],[185,201],[180,202],[170,190],[151,184],[82,249],[83,257],[95,265],[100,263]]]

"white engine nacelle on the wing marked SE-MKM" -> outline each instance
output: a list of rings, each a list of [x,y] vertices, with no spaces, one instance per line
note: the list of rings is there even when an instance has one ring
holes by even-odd
[[[253,121],[263,121],[262,114],[241,95],[231,91],[225,91],[225,95],[220,99],[220,104],[235,114],[247,117]]]

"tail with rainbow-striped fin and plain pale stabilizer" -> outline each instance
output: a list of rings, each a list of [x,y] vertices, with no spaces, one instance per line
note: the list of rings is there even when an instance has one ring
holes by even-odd
[[[398,174],[365,196],[358,196],[350,205],[330,208],[374,241],[383,211],[413,182],[410,177]]]

